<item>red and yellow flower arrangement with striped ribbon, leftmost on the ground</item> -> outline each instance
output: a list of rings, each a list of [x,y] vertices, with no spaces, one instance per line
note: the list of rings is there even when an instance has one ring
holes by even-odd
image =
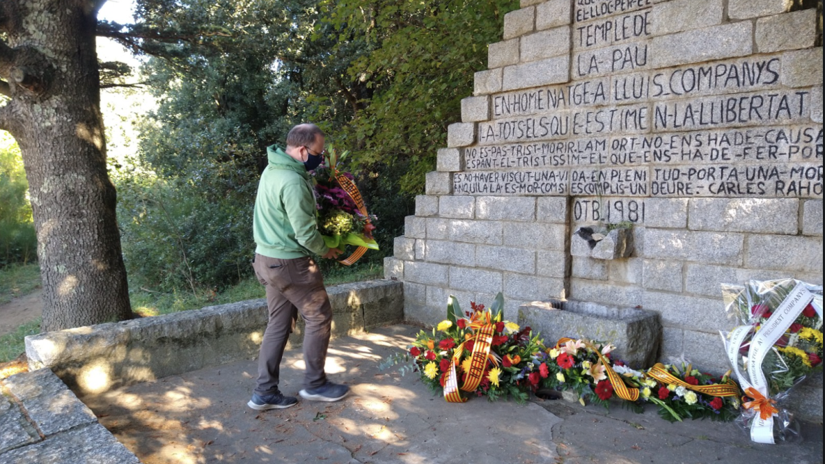
[[[475,302],[470,306],[462,313],[450,296],[447,319],[431,332],[422,330],[407,353],[390,356],[381,367],[404,364],[402,373],[419,372],[427,386],[450,402],[465,401],[458,392],[461,386],[469,395],[523,403],[528,391],[549,376],[544,344],[530,327],[502,320],[501,293],[490,308]]]

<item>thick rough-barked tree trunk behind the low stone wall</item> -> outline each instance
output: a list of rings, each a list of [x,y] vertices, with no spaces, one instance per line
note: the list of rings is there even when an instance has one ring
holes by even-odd
[[[29,181],[44,289],[42,329],[129,319],[100,111],[99,5],[2,2],[19,2],[14,14],[24,20],[7,23],[7,49],[14,53],[7,50],[13,59],[0,64],[0,76],[10,83],[12,102],[0,127],[20,144]]]

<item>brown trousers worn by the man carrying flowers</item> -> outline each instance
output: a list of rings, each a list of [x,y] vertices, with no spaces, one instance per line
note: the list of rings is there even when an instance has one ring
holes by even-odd
[[[256,253],[252,268],[258,282],[266,288],[269,308],[269,321],[258,357],[255,393],[271,395],[278,391],[281,358],[299,313],[305,322],[304,388],[323,386],[327,382],[323,365],[327,361],[332,329],[332,305],[318,266],[309,257],[279,259]]]

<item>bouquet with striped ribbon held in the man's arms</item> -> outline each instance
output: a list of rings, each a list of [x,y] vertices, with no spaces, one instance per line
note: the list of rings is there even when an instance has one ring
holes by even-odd
[[[324,163],[313,171],[318,231],[331,249],[342,249],[345,245],[363,248],[360,258],[366,249],[378,249],[372,236],[372,222],[377,218],[367,213],[352,174],[337,169],[337,163],[347,158],[349,152],[339,156],[331,146],[327,153]]]

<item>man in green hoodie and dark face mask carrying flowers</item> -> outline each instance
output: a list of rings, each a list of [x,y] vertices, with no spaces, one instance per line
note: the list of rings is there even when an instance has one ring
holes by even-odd
[[[252,267],[266,288],[269,321],[258,357],[257,387],[247,405],[253,410],[294,406],[298,400],[278,389],[281,357],[286,340],[295,329],[298,314],[304,318],[304,390],[306,400],[337,401],[349,387],[327,380],[327,360],[332,306],[315,253],[334,259],[341,253],[329,249],[318,233],[317,206],[308,171],[323,162],[324,135],[314,124],[296,125],[286,136],[286,149],[266,149],[269,165],[258,184],[254,231],[255,260]]]

